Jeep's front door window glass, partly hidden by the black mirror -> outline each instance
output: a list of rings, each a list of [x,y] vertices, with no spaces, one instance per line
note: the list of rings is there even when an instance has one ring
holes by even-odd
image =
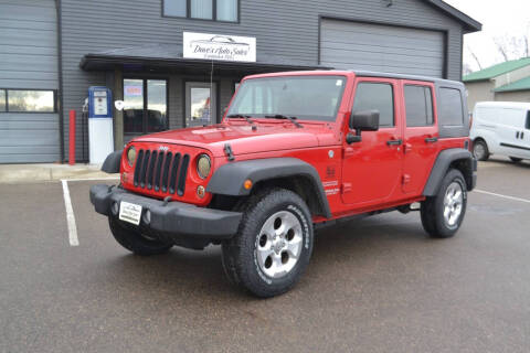
[[[391,84],[362,82],[357,85],[352,113],[379,110],[379,126],[394,126],[394,94]]]

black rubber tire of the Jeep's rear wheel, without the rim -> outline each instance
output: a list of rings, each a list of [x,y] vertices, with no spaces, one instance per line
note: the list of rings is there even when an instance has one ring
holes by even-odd
[[[452,183],[458,183],[462,188],[462,212],[458,216],[458,220],[453,226],[449,226],[444,217],[444,201],[447,193],[447,189]],[[447,174],[445,174],[439,185],[439,190],[435,196],[430,196],[422,202],[420,210],[422,217],[422,225],[425,232],[427,232],[432,237],[437,238],[448,238],[455,235],[455,233],[460,227],[464,216],[466,214],[467,206],[467,185],[462,172],[456,169],[451,169]]]

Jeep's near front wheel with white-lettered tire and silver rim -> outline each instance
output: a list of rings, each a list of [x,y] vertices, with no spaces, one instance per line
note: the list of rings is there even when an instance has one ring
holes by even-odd
[[[223,243],[223,267],[234,285],[267,298],[289,290],[312,252],[311,214],[296,193],[273,189],[251,197],[237,234]]]

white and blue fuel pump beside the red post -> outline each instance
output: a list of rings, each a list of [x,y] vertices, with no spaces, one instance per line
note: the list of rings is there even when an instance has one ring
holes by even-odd
[[[107,87],[88,88],[88,156],[102,164],[114,151],[113,93]]]

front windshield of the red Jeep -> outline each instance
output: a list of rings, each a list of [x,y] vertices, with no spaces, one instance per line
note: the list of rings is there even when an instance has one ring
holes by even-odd
[[[251,78],[237,90],[227,115],[335,121],[344,86],[344,76]]]

